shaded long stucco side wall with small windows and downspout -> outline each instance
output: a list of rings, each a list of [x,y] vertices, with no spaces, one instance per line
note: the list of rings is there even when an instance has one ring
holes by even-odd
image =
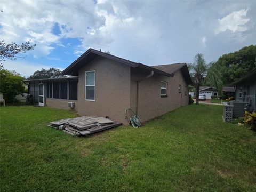
[[[136,81],[148,74],[131,70],[131,97],[130,103],[133,110],[136,107]],[[167,97],[161,97],[161,81],[167,82]],[[181,92],[178,87],[181,85]],[[186,95],[185,95],[186,91]],[[174,77],[166,77],[154,74],[139,83],[138,115],[142,122],[161,116],[181,106],[188,104],[188,85],[181,71],[177,71]]]

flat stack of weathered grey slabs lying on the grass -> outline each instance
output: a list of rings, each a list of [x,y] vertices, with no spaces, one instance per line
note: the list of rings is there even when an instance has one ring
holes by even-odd
[[[104,117],[76,117],[51,122],[49,126],[71,135],[87,135],[121,125]]]

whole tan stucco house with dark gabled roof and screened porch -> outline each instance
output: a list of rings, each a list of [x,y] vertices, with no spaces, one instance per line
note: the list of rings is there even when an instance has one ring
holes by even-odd
[[[131,107],[142,122],[188,104],[186,63],[147,66],[94,49],[62,72],[66,78],[25,80],[39,106],[74,109],[83,116],[108,116],[128,124]],[[130,114],[131,115],[131,114]]]

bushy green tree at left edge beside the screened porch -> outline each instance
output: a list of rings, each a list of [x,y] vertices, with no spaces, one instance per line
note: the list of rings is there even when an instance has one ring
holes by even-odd
[[[25,77],[15,71],[0,69],[0,92],[3,93],[6,103],[14,104],[15,96],[25,92],[24,79]]]

